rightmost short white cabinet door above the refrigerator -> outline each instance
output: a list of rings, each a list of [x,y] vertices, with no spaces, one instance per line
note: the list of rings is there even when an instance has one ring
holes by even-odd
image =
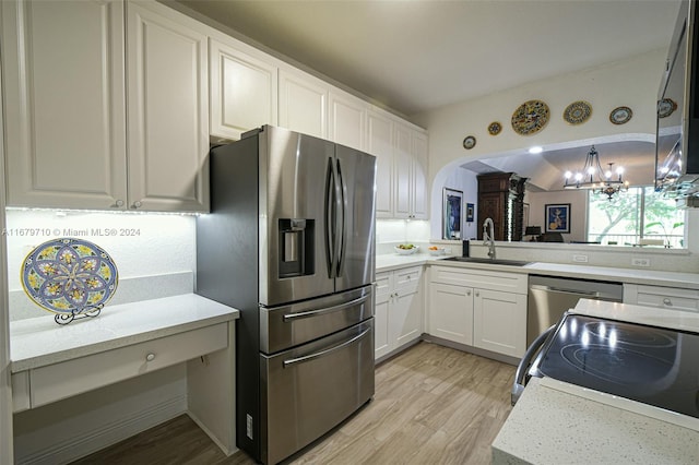
[[[364,102],[339,91],[330,92],[331,141],[358,151],[365,148],[367,111]]]

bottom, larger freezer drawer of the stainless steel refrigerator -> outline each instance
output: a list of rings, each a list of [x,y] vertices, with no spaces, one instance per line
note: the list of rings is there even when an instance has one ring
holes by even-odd
[[[260,357],[263,463],[308,445],[374,396],[374,319]]]

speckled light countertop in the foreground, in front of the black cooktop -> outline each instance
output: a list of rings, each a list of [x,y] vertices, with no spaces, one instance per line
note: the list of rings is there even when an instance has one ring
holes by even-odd
[[[697,464],[699,431],[532,378],[493,442],[493,464]]]

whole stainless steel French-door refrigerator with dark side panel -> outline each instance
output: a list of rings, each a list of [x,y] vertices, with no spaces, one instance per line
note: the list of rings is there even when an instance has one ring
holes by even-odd
[[[240,310],[237,445],[277,463],[374,395],[376,158],[264,126],[210,166],[197,293]]]

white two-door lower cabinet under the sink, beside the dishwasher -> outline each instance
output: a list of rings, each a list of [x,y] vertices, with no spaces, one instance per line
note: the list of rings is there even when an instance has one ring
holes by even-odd
[[[428,333],[511,357],[526,350],[526,275],[433,266]]]

